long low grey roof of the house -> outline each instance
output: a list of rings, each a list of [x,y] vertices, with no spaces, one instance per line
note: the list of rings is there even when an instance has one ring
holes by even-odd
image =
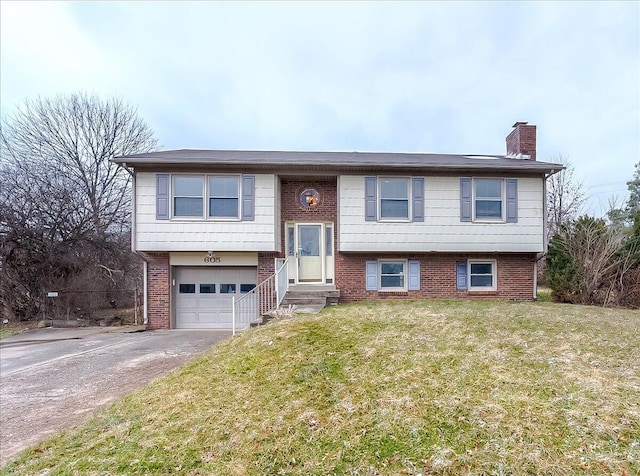
[[[504,155],[413,154],[390,152],[294,152],[180,149],[116,157],[114,162],[144,166],[214,166],[275,171],[430,170],[492,171],[546,174],[560,164]]]

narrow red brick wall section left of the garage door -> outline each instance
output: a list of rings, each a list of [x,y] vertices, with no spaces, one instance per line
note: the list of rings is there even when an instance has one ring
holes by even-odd
[[[169,253],[141,253],[147,262],[147,329],[171,327]]]

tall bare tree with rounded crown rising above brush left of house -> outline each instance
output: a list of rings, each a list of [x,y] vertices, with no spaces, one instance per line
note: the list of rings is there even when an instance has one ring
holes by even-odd
[[[25,101],[0,137],[3,161],[60,177],[97,234],[128,223],[130,176],[110,159],[157,146],[134,108],[84,93]]]

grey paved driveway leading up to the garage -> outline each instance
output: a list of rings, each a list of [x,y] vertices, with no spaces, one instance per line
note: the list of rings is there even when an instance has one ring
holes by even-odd
[[[46,328],[0,340],[0,463],[230,336]]]

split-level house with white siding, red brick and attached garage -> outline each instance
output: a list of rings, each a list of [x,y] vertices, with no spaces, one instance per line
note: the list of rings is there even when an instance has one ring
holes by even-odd
[[[255,313],[262,295],[279,303],[282,292],[305,289],[340,302],[532,300],[545,180],[562,166],[536,160],[534,125],[517,122],[506,142],[500,156],[184,149],[118,157],[134,177],[145,322],[227,328],[241,296],[256,294]]]

